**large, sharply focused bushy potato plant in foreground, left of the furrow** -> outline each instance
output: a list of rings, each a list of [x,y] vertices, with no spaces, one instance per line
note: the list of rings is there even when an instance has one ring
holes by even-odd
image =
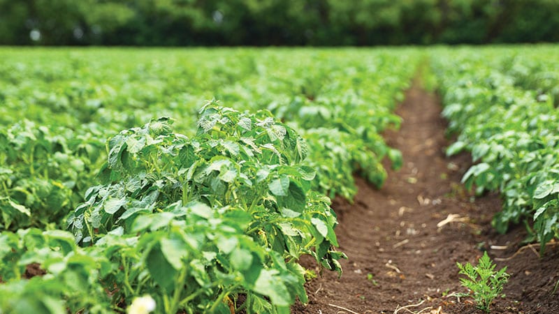
[[[311,189],[315,172],[293,129],[269,112],[215,103],[202,108],[194,137],[172,124],[110,138],[104,184],[68,218],[82,246],[131,251],[118,261],[129,277],[110,278],[127,288],[113,298],[152,293],[164,313],[289,313],[296,297],[307,299],[301,255],[341,274],[335,214]]]

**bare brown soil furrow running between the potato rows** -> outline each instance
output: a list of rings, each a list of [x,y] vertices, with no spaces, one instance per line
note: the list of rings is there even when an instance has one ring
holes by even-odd
[[[498,262],[511,278],[492,313],[559,313],[559,290],[553,293],[559,282],[557,246],[548,246],[541,259],[530,247],[515,255],[524,227],[495,233],[491,218],[501,208],[500,197],[474,200],[460,185],[470,156],[444,156],[449,140],[440,110],[440,101],[418,84],[407,91],[396,111],[402,128],[385,134],[402,151],[404,166],[389,170],[380,190],[356,178],[354,204],[334,201],[340,251],[349,257],[342,261],[344,274],[337,278],[324,271],[307,283],[310,302],[296,304],[292,313],[481,313],[470,298],[449,295],[466,292],[456,262],[477,263],[484,250],[493,259],[514,255]],[[456,216],[450,221],[449,215]],[[409,307],[398,310],[402,306]]]

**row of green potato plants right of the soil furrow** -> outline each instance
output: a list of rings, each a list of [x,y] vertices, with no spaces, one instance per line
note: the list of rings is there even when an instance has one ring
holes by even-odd
[[[525,221],[528,240],[542,252],[559,237],[559,69],[550,61],[557,55],[553,47],[475,56],[444,50],[432,60],[444,117],[458,134],[447,154],[471,152],[476,164],[463,177],[466,186],[499,190],[504,200],[494,227],[506,232]]]

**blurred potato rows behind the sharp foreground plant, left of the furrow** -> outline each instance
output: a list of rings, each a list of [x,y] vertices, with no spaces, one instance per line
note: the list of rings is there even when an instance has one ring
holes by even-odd
[[[177,131],[194,135],[197,112],[187,103],[213,97],[238,110],[268,109],[303,135],[307,162],[317,170],[313,188],[331,197],[351,200],[354,172],[381,186],[386,156],[400,166],[399,152],[379,133],[399,125],[391,110],[413,74],[412,52],[302,50],[293,53],[300,63],[289,66],[287,54],[274,51],[117,51],[108,60],[94,52],[61,61],[64,51],[23,51],[22,59],[3,52],[11,61],[0,66],[3,228],[63,227],[62,218],[99,183],[106,138],[162,115],[180,119]]]

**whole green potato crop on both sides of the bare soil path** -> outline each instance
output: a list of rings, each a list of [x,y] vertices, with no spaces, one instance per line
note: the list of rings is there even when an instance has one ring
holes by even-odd
[[[354,199],[354,174],[382,188],[405,161],[382,133],[414,77],[440,91],[447,154],[472,154],[465,186],[500,191],[494,227],[525,223],[544,253],[559,237],[557,59],[2,48],[0,313],[289,313],[317,276],[303,255],[342,274],[331,198]]]

